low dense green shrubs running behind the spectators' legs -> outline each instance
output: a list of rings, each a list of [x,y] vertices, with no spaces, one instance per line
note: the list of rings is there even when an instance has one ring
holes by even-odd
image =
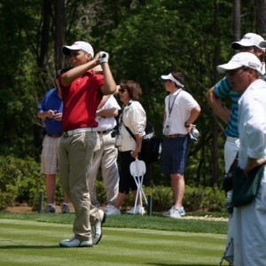
[[[153,211],[161,212],[173,205],[173,194],[169,186],[144,186],[145,195],[153,196]],[[34,210],[38,208],[39,193],[43,192],[43,204],[46,203],[45,178],[40,173],[40,164],[31,158],[22,160],[12,156],[0,157],[0,210],[16,202],[26,202]],[[106,191],[102,180],[97,180],[98,200],[106,205]],[[63,201],[63,192],[57,178],[56,200]],[[216,186],[191,187],[186,185],[184,208],[186,211],[224,211],[225,196]],[[134,206],[132,193],[124,201],[122,208]]]

